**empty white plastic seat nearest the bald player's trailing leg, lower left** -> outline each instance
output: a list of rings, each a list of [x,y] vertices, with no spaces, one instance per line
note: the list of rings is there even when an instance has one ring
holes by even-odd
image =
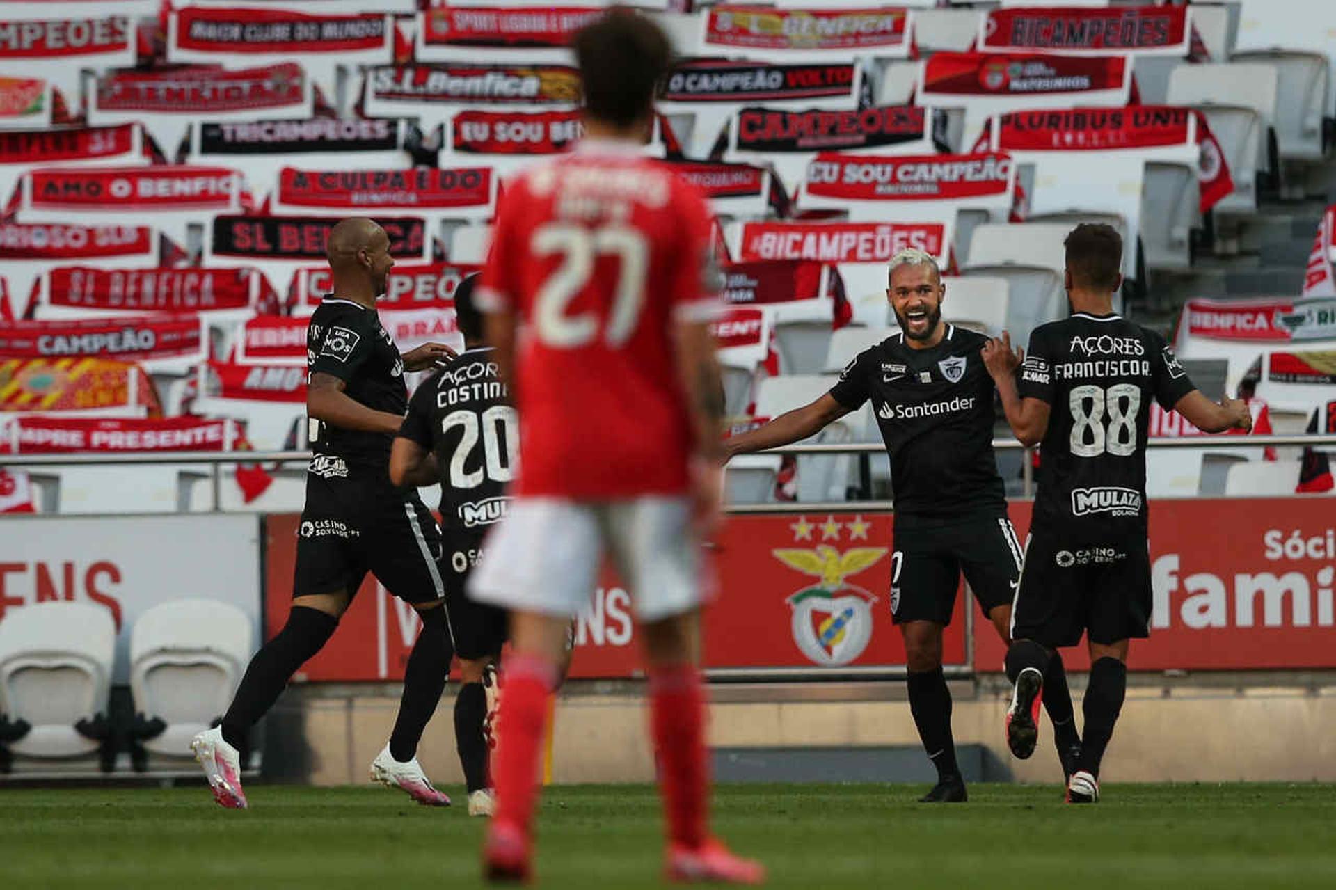
[[[147,751],[190,756],[190,739],[227,710],[254,652],[251,621],[215,600],[162,603],[130,633],[130,691],[135,712],[162,727]]]

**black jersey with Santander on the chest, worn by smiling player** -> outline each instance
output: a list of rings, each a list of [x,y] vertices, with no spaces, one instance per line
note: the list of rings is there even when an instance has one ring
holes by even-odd
[[[993,454],[993,378],[987,338],[947,325],[942,342],[912,349],[896,331],[848,363],[831,396],[856,409],[871,400],[891,457],[895,521],[1005,514]]]

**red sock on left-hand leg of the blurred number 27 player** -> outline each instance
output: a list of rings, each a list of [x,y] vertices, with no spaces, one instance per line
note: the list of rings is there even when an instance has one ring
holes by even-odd
[[[529,834],[538,798],[538,748],[548,722],[548,696],[556,688],[557,668],[533,655],[506,659],[505,688],[497,716],[500,744],[492,758],[497,788],[497,822]]]

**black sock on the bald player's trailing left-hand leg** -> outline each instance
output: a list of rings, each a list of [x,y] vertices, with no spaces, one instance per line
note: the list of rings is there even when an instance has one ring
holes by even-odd
[[[273,640],[261,647],[236,687],[231,707],[223,716],[223,739],[239,751],[246,750],[250,728],[274,707],[283,687],[313,655],[321,651],[338,619],[319,609],[294,605],[287,624]]]

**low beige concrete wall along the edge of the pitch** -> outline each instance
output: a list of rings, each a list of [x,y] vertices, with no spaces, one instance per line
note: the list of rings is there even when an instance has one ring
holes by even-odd
[[[1073,676],[1078,722],[1083,683],[1082,676]],[[1015,760],[1006,750],[1007,692],[998,678],[951,686],[957,746],[982,748],[979,778],[1061,779],[1046,723],[1033,759]],[[803,751],[826,755],[835,764],[850,752],[896,748],[916,754],[922,770],[887,779],[929,775],[903,683],[716,686],[712,698],[711,743],[716,748]],[[441,700],[418,752],[428,774],[446,783],[462,782],[453,703],[449,694]],[[366,782],[397,707],[394,686],[294,690],[270,722],[266,771],[315,784]],[[643,690],[562,694],[556,707],[552,778],[557,783],[652,780]],[[1228,678],[1138,682],[1128,691],[1104,778],[1336,782],[1336,676],[1303,682],[1283,676],[1252,686],[1233,686]]]

